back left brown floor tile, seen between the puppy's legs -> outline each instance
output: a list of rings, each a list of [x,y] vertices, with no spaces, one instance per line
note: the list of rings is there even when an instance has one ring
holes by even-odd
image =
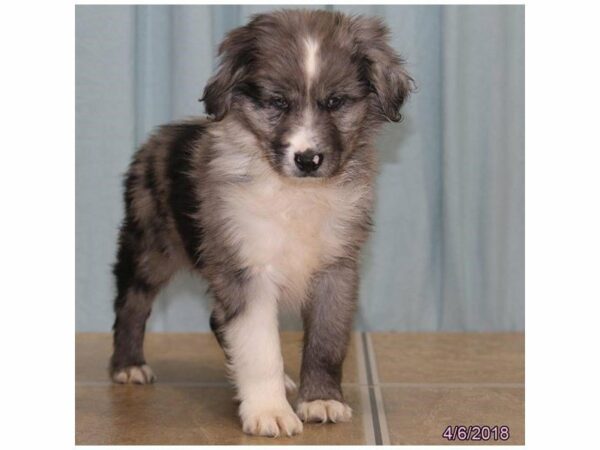
[[[107,381],[112,341],[108,333],[78,333],[76,337],[76,381]],[[344,364],[344,382],[357,381],[354,339]],[[300,374],[302,333],[281,334],[286,372],[296,382]],[[225,359],[210,333],[149,333],[145,354],[159,382],[223,383]]]

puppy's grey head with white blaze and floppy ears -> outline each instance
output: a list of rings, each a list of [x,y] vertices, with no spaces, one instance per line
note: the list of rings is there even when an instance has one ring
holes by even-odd
[[[203,101],[249,129],[284,176],[330,177],[377,126],[400,120],[412,89],[378,19],[325,11],[254,16],[219,47]]]

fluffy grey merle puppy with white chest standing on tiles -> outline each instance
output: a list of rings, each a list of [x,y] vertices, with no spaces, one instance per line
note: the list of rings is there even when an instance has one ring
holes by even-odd
[[[189,268],[214,294],[210,326],[246,433],[350,420],[342,362],[371,226],[372,141],[400,120],[412,79],[381,21],[325,11],[254,16],[219,56],[202,99],[209,117],[161,127],[126,176],[112,379],[154,380],[146,320],[157,292]],[[280,304],[299,310],[305,328],[295,412]]]

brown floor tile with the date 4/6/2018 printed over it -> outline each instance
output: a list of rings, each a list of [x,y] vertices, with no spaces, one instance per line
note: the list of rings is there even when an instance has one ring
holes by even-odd
[[[524,388],[384,387],[382,394],[391,444],[524,444]],[[506,425],[510,438],[449,442],[442,437],[448,425]]]

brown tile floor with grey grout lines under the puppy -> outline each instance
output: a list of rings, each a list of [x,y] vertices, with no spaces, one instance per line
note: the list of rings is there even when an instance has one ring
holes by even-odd
[[[282,333],[296,381],[300,333]],[[77,444],[524,444],[524,338],[517,333],[355,334],[344,366],[352,422],[307,424],[293,438],[242,433],[223,355],[210,334],[150,334],[158,382],[110,383],[109,334],[76,337]],[[478,425],[487,441],[448,441],[447,426]],[[494,441],[492,427],[509,438]],[[454,430],[454,429],[453,429]],[[473,437],[477,437],[475,433]],[[505,437],[505,436],[503,436]]]

